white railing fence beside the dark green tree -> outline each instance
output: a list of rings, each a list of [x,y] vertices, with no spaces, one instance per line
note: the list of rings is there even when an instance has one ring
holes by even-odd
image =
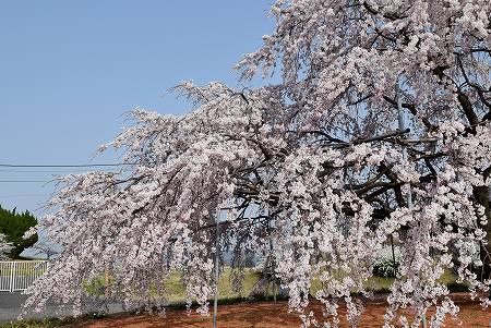
[[[23,291],[47,269],[46,260],[0,262],[0,292]]]

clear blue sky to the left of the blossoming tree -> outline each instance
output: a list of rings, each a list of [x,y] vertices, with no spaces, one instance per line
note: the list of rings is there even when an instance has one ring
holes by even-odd
[[[238,86],[231,68],[272,32],[270,4],[0,1],[0,163],[117,162],[94,154],[128,110],[183,113],[187,104],[167,93],[182,80]],[[0,181],[69,171],[0,167]],[[52,191],[52,183],[0,182],[0,205],[39,216]]]

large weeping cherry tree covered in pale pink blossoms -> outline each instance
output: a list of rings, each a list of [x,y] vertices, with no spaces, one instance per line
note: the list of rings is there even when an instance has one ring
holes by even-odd
[[[272,14],[275,32],[237,69],[279,83],[183,82],[193,110],[135,109],[101,147],[121,149],[124,170],[60,179],[37,229],[63,251],[27,308],[53,299],[77,311],[105,271],[127,306],[165,306],[163,281],[178,271],[207,314],[219,251],[237,280],[244,254],[270,258],[303,327],[338,327],[343,302],[356,327],[392,240],[385,327],[417,327],[430,307],[431,327],[458,315],[445,270],[490,304],[491,3],[280,0]]]

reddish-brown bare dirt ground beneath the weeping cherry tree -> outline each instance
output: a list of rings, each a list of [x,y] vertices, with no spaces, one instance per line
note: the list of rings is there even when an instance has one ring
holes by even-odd
[[[460,307],[458,320],[447,318],[445,327],[491,327],[491,308],[482,309],[477,302],[471,302],[467,295],[454,294],[452,299]],[[382,327],[383,314],[385,312],[385,302],[370,301],[366,303],[366,311],[359,324],[359,327],[372,328]],[[320,304],[313,304],[314,312],[321,311]],[[345,307],[340,307],[344,314]],[[196,313],[188,315],[185,311],[167,311],[165,318],[158,316],[137,315],[137,316],[116,316],[105,319],[92,320],[76,328],[151,328],[151,327],[172,327],[172,328],[208,328],[212,327],[212,317],[203,317]],[[273,303],[240,303],[233,305],[220,305],[218,307],[218,327],[221,328],[289,328],[300,327],[300,319],[295,314],[289,314],[286,302],[279,302],[274,307]],[[349,327],[342,320],[340,327]],[[429,327],[429,326],[428,326]]]

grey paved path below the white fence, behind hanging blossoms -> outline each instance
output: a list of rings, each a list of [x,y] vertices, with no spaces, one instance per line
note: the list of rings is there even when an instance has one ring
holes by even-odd
[[[21,314],[22,304],[27,299],[27,295],[23,295],[20,292],[8,293],[0,292],[0,323],[14,321]],[[100,309],[100,305],[94,304],[86,312],[93,312]],[[120,304],[109,304],[109,313],[121,312],[122,308]],[[53,305],[48,305],[43,313],[31,313],[26,315],[26,318],[41,318],[41,317],[55,317],[71,315],[70,311],[59,312],[59,308]]]

